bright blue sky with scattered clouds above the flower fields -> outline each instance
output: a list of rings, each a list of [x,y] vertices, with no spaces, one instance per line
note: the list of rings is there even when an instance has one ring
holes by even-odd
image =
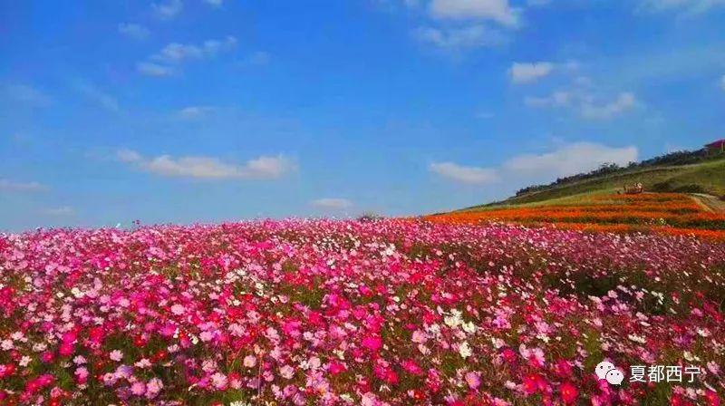
[[[410,215],[725,137],[721,0],[0,0],[0,229]]]

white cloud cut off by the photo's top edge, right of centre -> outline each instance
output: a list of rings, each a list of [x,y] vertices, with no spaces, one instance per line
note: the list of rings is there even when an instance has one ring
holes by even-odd
[[[432,0],[430,14],[440,19],[492,20],[499,24],[518,24],[518,10],[508,0]]]

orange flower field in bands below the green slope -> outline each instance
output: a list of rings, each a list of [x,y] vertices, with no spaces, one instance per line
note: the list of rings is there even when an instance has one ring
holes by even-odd
[[[569,229],[653,231],[725,241],[725,213],[708,211],[689,196],[677,193],[600,195],[574,203],[459,211],[428,219],[449,224],[554,223]]]

